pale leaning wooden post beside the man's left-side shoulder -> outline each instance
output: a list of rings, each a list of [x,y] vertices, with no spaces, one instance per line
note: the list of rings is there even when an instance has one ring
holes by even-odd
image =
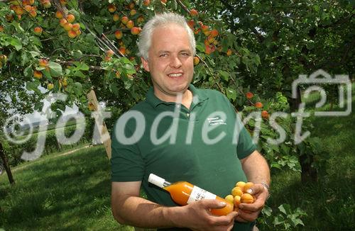
[[[89,94],[87,94],[87,99],[89,100],[89,108],[92,111],[100,111],[99,102],[97,101],[94,90],[91,90]],[[101,121],[102,124],[100,123]],[[111,159],[111,137],[109,135],[109,131],[107,130],[107,126],[103,119],[95,119],[95,125],[99,129],[100,140],[104,143],[107,157]]]

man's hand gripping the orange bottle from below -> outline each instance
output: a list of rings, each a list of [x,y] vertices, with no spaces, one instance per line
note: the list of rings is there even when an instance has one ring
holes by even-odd
[[[178,227],[189,227],[192,230],[231,230],[234,225],[234,218],[238,213],[232,212],[228,215],[213,215],[212,208],[224,208],[225,203],[217,200],[203,199],[188,205],[177,207],[175,210],[176,225]]]

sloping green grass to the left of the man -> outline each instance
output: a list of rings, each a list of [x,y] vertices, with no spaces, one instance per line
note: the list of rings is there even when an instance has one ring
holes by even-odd
[[[5,230],[133,230],[110,208],[110,169],[102,146],[46,156],[0,177],[0,228]]]

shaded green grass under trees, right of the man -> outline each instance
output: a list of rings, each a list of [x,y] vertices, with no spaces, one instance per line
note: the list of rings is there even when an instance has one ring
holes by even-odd
[[[355,84],[352,108],[355,110]],[[314,106],[319,96],[314,94],[307,105]],[[329,109],[329,104],[324,110]],[[334,110],[337,107],[334,106]],[[322,150],[329,153],[325,171],[318,182],[302,184],[300,174],[279,171],[272,176],[272,194],[268,205],[289,203],[300,207],[307,216],[300,230],[355,230],[355,113],[344,117],[313,117],[312,137],[320,137]]]

